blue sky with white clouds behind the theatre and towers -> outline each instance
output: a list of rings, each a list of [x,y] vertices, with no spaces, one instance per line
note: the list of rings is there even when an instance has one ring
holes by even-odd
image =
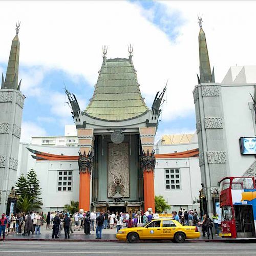
[[[254,1],[1,1],[0,72],[6,72],[15,24],[19,31],[19,79],[26,96],[21,141],[63,135],[72,124],[63,88],[84,110],[102,63],[133,62],[148,107],[168,80],[158,136],[194,133],[192,91],[199,73],[198,13],[203,13],[211,67],[221,82],[230,66],[256,64]]]

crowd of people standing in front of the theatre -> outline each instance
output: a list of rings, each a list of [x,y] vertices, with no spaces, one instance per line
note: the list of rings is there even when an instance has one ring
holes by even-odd
[[[166,213],[165,211],[163,213]],[[199,217],[197,210],[180,209],[179,212],[173,211],[173,219],[188,226],[202,226],[203,237],[210,235],[213,239],[212,228],[215,227],[217,234],[219,234],[219,217],[218,214],[212,216],[212,221],[208,215]],[[61,230],[65,232],[65,238],[70,238],[70,233],[75,230],[84,229],[85,234],[90,234],[91,231],[96,230],[96,239],[101,239],[102,229],[116,229],[118,232],[123,227],[131,228],[137,227],[140,224],[146,224],[154,218],[151,208],[145,212],[142,210],[130,212],[114,212],[114,211],[76,211],[71,215],[68,211],[54,211],[44,214],[44,212],[31,211],[25,214],[18,213],[15,216],[2,215],[0,219],[0,238],[3,233],[3,240],[5,234],[16,232],[19,235],[30,236],[31,234],[40,234],[41,226],[46,223],[46,229],[52,229],[52,238],[59,238]],[[74,230],[72,225],[74,224]]]

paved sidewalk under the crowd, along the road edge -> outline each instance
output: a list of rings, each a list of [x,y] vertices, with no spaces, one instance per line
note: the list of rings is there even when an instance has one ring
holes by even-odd
[[[74,230],[74,226],[73,226]],[[6,237],[8,241],[71,241],[71,242],[116,242],[116,243],[124,243],[123,241],[118,241],[115,237],[116,235],[116,228],[113,229],[103,229],[102,230],[102,239],[95,239],[96,238],[96,231],[91,231],[91,234],[84,234],[84,230],[80,229],[74,230],[74,233],[70,234],[70,239],[65,239],[64,230],[61,230],[61,234],[58,239],[52,239],[52,229],[46,229],[46,226],[41,226],[41,234],[30,234],[30,236],[22,236],[16,233],[9,233]],[[162,243],[172,243],[169,240],[141,240],[141,242],[162,242]],[[207,239],[207,237],[200,237],[198,239],[189,239],[186,240],[185,243],[204,243],[204,242],[248,242],[245,240],[235,240],[230,238],[220,238],[219,236],[214,236],[214,239]]]

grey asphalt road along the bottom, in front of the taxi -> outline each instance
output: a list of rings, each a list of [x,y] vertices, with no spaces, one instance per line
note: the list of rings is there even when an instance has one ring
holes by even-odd
[[[0,255],[256,255],[254,243],[0,242]]]

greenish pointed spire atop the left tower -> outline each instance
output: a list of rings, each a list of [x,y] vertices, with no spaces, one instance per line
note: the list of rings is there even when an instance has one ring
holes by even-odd
[[[16,24],[16,35],[12,40],[10,57],[8,61],[4,88],[14,89],[18,88],[18,63],[19,63],[19,32],[20,23]]]

